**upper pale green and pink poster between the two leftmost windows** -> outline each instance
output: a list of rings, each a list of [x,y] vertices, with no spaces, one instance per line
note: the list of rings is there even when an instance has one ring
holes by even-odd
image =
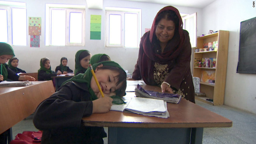
[[[41,35],[42,19],[40,17],[28,17],[28,33],[29,35]]]

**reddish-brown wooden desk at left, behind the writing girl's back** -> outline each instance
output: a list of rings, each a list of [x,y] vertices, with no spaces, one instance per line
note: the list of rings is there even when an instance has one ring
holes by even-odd
[[[52,81],[33,81],[28,86],[0,87],[0,134],[32,114],[44,99],[54,93]]]

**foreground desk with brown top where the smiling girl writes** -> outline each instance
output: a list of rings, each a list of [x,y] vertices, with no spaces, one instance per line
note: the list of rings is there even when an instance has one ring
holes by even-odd
[[[160,91],[155,86],[142,88]],[[110,111],[83,121],[86,126],[108,127],[108,144],[202,144],[203,128],[232,126],[231,120],[185,99],[167,102],[167,109],[169,118]]]

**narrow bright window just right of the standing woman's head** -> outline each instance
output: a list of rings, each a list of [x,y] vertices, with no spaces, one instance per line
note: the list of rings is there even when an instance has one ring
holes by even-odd
[[[196,13],[182,16],[182,20],[183,29],[189,33],[191,47],[196,47]]]

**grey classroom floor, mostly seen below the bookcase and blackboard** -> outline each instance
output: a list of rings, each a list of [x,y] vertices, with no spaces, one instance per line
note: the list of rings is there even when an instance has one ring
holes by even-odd
[[[225,105],[212,106],[198,100],[196,104],[233,121],[230,128],[204,128],[203,144],[256,144],[256,114]],[[32,116],[12,127],[13,139],[23,131],[38,131],[32,123]],[[107,138],[104,138],[104,144],[107,144]]]

